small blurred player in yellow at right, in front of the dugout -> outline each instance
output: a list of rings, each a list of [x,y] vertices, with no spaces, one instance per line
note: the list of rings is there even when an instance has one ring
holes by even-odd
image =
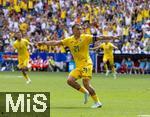
[[[114,79],[116,79],[113,49],[118,49],[118,47],[116,47],[114,44],[110,43],[108,40],[105,40],[104,43],[102,43],[101,45],[93,48],[93,50],[99,49],[99,48],[102,48],[103,51],[104,51],[103,63],[104,63],[104,68],[106,70],[106,76],[108,76],[108,74],[109,74],[109,70],[108,70],[108,66],[107,66],[107,62],[109,62],[110,67],[111,67],[112,72],[113,72]]]

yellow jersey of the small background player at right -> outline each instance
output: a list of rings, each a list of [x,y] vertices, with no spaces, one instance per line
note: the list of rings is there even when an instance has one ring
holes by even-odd
[[[100,48],[103,48],[104,56],[113,56],[113,44],[112,43],[102,43]]]

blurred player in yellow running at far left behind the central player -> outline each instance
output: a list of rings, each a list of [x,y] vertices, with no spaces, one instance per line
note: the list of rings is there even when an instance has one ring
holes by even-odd
[[[29,41],[22,38],[21,32],[16,34],[16,41],[13,44],[14,49],[18,52],[18,68],[21,69],[24,78],[26,79],[26,83],[31,83],[29,76],[27,75],[26,71],[28,70],[29,64],[29,52],[28,52],[28,45],[30,45]]]

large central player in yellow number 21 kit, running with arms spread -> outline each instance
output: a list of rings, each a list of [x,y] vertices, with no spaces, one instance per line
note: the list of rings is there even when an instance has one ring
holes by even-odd
[[[92,108],[99,108],[102,106],[94,88],[90,84],[92,78],[92,60],[89,55],[89,44],[93,42],[93,36],[88,34],[81,34],[80,26],[75,24],[72,27],[73,36],[70,36],[61,41],[42,41],[38,44],[46,44],[49,46],[64,45],[69,47],[76,68],[72,70],[68,76],[67,83],[74,89],[84,93],[84,103],[88,101],[89,94],[94,100]],[[99,38],[98,38],[99,39]],[[80,86],[76,81],[82,78],[84,87]]]

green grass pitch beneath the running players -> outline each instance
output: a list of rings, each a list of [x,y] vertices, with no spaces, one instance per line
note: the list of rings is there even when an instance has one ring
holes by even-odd
[[[1,92],[50,92],[51,117],[140,117],[150,115],[150,75],[93,74],[92,85],[103,107],[83,104],[83,94],[66,84],[68,73],[30,72],[27,85],[20,72],[0,72]],[[81,80],[79,80],[81,83]],[[142,117],[142,116],[141,116]]]

